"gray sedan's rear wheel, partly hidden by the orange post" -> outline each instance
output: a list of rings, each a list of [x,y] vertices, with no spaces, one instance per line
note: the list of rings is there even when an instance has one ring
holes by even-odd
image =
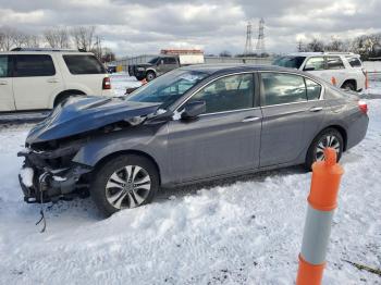
[[[329,141],[330,138],[330,141]],[[308,148],[305,168],[310,171],[312,169],[314,162],[317,160],[323,160],[323,154],[321,147],[333,147],[337,152],[337,162],[340,161],[343,149],[344,149],[344,139],[340,132],[335,128],[327,128],[322,131],[319,135],[315,137],[311,145]],[[322,156],[321,156],[322,154]]]

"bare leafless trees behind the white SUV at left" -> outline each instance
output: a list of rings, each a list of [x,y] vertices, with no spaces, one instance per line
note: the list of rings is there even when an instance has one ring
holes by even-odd
[[[53,27],[39,35],[26,34],[9,26],[0,27],[0,51],[14,48],[74,48],[91,51],[102,62],[115,60],[114,52],[102,46],[102,39],[97,35],[96,26]]]

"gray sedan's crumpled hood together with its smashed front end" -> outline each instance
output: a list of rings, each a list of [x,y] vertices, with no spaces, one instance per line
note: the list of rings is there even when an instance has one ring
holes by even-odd
[[[48,202],[87,195],[91,166],[73,161],[98,135],[130,128],[153,114],[159,103],[121,98],[71,97],[36,124],[17,153],[25,161],[19,176],[26,202]]]

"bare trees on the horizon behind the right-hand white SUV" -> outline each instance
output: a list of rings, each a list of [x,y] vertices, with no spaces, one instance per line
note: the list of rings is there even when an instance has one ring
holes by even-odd
[[[361,55],[362,60],[376,60],[381,58],[381,33],[361,35],[354,39],[342,40],[332,37],[329,41],[320,38],[312,38],[308,42],[299,40],[296,46],[297,51],[341,51],[354,52]]]

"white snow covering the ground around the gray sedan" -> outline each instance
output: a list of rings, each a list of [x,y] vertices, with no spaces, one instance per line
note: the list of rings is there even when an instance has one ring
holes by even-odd
[[[136,80],[113,78],[122,92]],[[372,82],[368,94],[380,95]],[[367,95],[365,95],[367,97]],[[374,98],[374,96],[372,97]],[[381,100],[366,139],[344,154],[323,284],[381,284],[344,260],[381,268]],[[90,199],[46,211],[22,200],[22,148],[32,125],[0,128],[0,284],[292,284],[310,173],[288,168],[162,191],[102,220]]]

